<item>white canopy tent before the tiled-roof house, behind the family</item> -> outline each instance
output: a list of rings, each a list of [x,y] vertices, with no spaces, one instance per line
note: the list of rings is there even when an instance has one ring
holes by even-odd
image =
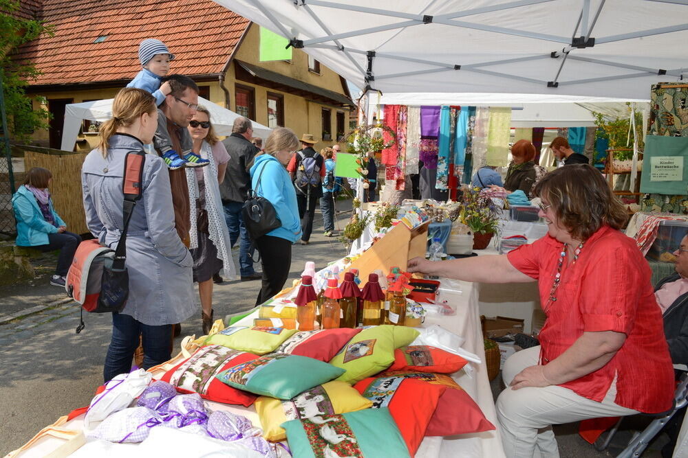
[[[94,100],[93,102],[68,104],[65,107],[65,125],[62,134],[61,149],[64,151],[72,151],[74,149],[76,137],[79,134],[81,121],[83,119],[97,122],[103,122],[110,119],[112,117],[112,100],[113,99]],[[202,97],[198,98],[198,104],[205,106],[208,108],[208,111],[210,111],[211,122],[213,122],[213,127],[217,135],[230,135],[230,133],[232,133],[234,120],[240,115],[227,108],[222,108],[222,106]],[[266,139],[271,131],[271,128],[253,122],[253,133],[256,137]]]

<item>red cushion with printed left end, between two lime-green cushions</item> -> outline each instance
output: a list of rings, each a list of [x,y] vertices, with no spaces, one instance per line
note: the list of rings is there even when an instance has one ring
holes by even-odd
[[[275,352],[308,356],[327,363],[359,332],[361,329],[349,328],[297,332]]]

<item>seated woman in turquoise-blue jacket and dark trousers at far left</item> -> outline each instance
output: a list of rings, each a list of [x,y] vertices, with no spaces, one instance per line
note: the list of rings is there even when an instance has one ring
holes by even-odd
[[[60,250],[55,274],[50,284],[65,287],[65,276],[72,264],[81,238],[67,232],[67,225],[55,211],[47,188],[52,181],[50,170],[34,167],[12,196],[14,219],[17,220],[17,246],[41,251]]]

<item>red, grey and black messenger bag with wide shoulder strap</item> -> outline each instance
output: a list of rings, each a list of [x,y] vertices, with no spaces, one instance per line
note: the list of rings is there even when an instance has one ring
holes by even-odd
[[[128,152],[125,158],[122,182],[124,228],[117,249],[103,247],[94,239],[81,242],[74,253],[65,289],[69,297],[81,304],[81,317],[76,334],[85,328],[83,310],[93,313],[120,312],[127,304],[127,229],[136,201],[141,198],[145,161],[146,154],[142,151]]]

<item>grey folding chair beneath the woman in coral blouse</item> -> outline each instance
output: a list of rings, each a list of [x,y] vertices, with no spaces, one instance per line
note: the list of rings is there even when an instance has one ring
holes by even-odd
[[[652,420],[652,422],[647,425],[647,427],[641,433],[634,433],[626,448],[624,448],[619,455],[616,455],[616,458],[640,457],[645,451],[645,448],[647,448],[649,445],[649,442],[657,435],[657,433],[659,433],[659,431],[662,430],[662,428],[664,428],[665,424],[667,424],[671,417],[674,416],[674,413],[676,413],[676,411],[679,409],[686,407],[686,405],[688,405],[688,374],[683,373],[680,376],[678,385],[676,386],[676,391],[674,391],[673,407],[671,407],[671,409],[668,411],[655,414],[655,419]],[[621,425],[622,420],[623,417],[619,418],[619,421],[614,424],[612,429],[610,429],[602,444],[593,444],[595,450],[601,452],[609,446],[610,442],[612,442],[612,439],[614,438],[614,435],[616,434],[616,431],[619,431],[619,426]]]

